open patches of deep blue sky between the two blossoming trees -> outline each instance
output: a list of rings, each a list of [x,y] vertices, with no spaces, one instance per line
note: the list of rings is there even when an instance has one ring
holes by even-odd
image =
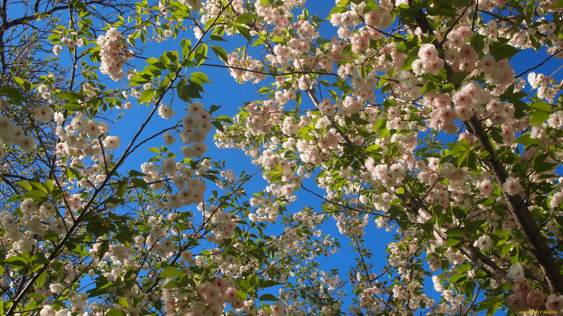
[[[309,11],[310,15],[316,14],[320,18],[324,19],[328,16],[332,5],[333,2],[328,0],[310,0],[307,1],[306,8]],[[336,34],[336,28],[333,28],[330,22],[324,22],[323,26],[324,28],[321,29],[321,37],[330,38],[333,36],[332,33]],[[181,32],[176,40],[169,38],[167,41],[163,41],[162,43],[149,43],[148,49],[146,49],[144,56],[158,57],[162,55],[165,50],[181,51],[180,40],[184,37],[190,39],[192,43],[195,43],[193,31],[189,29],[186,32]],[[234,50],[236,47],[244,45],[245,39],[238,37],[238,35],[235,35],[235,37],[225,36],[225,38],[229,39],[230,42],[212,42],[210,44],[223,46],[227,52]],[[259,50],[259,48],[254,48],[253,52],[258,52]],[[263,48],[260,50],[260,52],[257,53],[257,56],[260,56],[262,50]],[[212,57],[213,60],[207,61],[206,63],[222,64],[222,62],[213,55],[211,49],[208,53],[208,57]],[[253,57],[256,57],[256,55]],[[136,69],[140,70],[143,66],[144,65],[142,64],[142,61],[140,61]],[[242,107],[243,102],[260,99],[260,96],[256,92],[256,87],[254,87],[252,83],[236,83],[236,80],[231,77],[230,71],[228,69],[211,66],[200,66],[199,69],[189,70],[187,71],[187,73],[192,73],[195,71],[201,71],[207,74],[209,80],[213,82],[212,84],[204,85],[205,93],[202,94],[203,100],[197,99],[197,101],[203,103],[205,109],[209,109],[211,105],[222,106],[221,109],[217,110],[213,114],[213,116],[234,116],[238,114],[238,107]],[[101,75],[100,78],[103,78],[103,76],[104,75]],[[271,79],[269,78],[263,80],[263,82],[258,83],[258,88],[262,86],[262,83],[265,84],[266,82],[271,82]],[[171,120],[181,119],[181,117],[185,114],[184,109],[185,106],[187,106],[187,103],[181,101],[178,97],[175,97],[174,100],[174,103],[170,104],[167,103],[169,101],[167,101],[167,98],[165,98],[163,103],[172,105],[173,109],[178,112],[178,115],[169,120],[164,120],[158,115],[155,115],[149,123],[148,127],[145,129],[146,132],[142,135],[146,137],[151,136],[154,133],[162,130],[164,127],[171,126],[173,124]],[[119,124],[113,125],[113,129],[110,131],[110,134],[122,138],[122,143],[124,145],[129,143],[134,134],[132,133],[132,131],[136,131],[136,128],[142,123],[142,121],[145,120],[146,116],[150,112],[150,109],[146,109],[144,105],[136,107],[135,102],[133,102],[133,104],[134,105],[131,110],[122,110],[122,112],[124,113],[123,119],[120,120]],[[314,105],[312,105],[312,103],[308,99],[303,98],[300,109],[314,109]],[[244,155],[243,151],[233,148],[218,149],[215,145],[213,145],[211,143],[211,140],[214,133],[215,129],[213,129],[213,131],[208,134],[208,139],[207,141],[205,141],[208,145],[208,151],[205,156],[213,157],[214,161],[225,160],[227,169],[233,169],[236,175],[240,174],[242,171],[247,171],[247,174],[252,174],[258,169],[256,165],[253,165],[251,163],[251,157]],[[139,139],[144,138],[140,137]],[[127,164],[122,167],[122,170],[140,170],[140,165],[150,159],[150,157],[154,156],[154,153],[147,151],[145,148],[160,147],[162,145],[162,138],[157,137],[154,139],[154,141],[146,143],[146,146],[141,146],[140,148],[138,148],[136,155],[129,156],[129,160],[127,161]],[[179,153],[180,147],[181,144],[178,141],[174,146],[172,146],[171,150],[173,152]],[[267,184],[267,181],[262,179],[260,175],[256,175],[253,180],[245,186],[247,190],[246,192],[251,195],[252,193],[262,191],[267,186]],[[322,189],[316,188],[316,184],[314,183],[314,180],[312,178],[306,180],[305,185],[308,189],[319,193],[321,196],[324,195]],[[208,183],[208,194],[211,194],[212,189],[217,189],[217,187],[212,183]],[[309,192],[303,190],[297,191],[296,196],[298,197],[297,200],[293,202],[291,206],[288,206],[288,211],[297,212],[300,211],[303,207],[307,206],[312,206],[316,210],[321,211],[320,205],[323,202],[321,198],[313,196]],[[325,258],[324,256],[317,256],[315,260],[320,263],[321,270],[330,271],[330,269],[339,269],[341,279],[347,279],[348,268],[350,267],[350,265],[355,264],[355,261],[353,259],[356,258],[356,252],[352,250],[353,246],[350,246],[350,242],[347,241],[346,236],[338,233],[338,229],[335,223],[336,222],[333,219],[329,219],[321,229],[323,230],[323,233],[330,234],[333,238],[341,240],[341,250],[336,254],[330,255],[328,258]],[[278,231],[279,227],[275,228],[270,234],[277,234],[279,233]],[[367,234],[364,238],[366,241],[368,241],[368,244],[370,244],[369,249],[373,254],[372,260],[370,260],[376,267],[373,272],[378,273],[379,267],[382,267],[384,264],[386,264],[387,254],[385,252],[385,247],[387,246],[387,243],[392,240],[392,233],[386,233],[384,229],[379,230],[375,228],[374,225],[370,225],[370,228],[367,229]],[[351,290],[351,288],[349,290]],[[343,308],[346,309],[351,302],[345,301],[344,303],[345,304],[343,304]]]

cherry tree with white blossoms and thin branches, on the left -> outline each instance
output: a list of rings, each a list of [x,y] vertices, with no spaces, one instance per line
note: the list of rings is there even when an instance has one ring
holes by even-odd
[[[311,211],[279,219],[285,230],[276,236],[248,220],[243,186],[253,174],[237,177],[205,157],[207,133],[221,126],[212,116],[218,107],[195,100],[209,83],[195,70],[207,45],[184,39],[182,52],[144,56],[149,42],[182,29],[169,4],[155,4],[3,7],[2,315],[282,315],[264,289],[285,272],[271,267],[336,247],[313,234],[324,218]],[[201,8],[188,4],[176,2],[173,13],[187,25]],[[213,17],[202,36],[218,36],[220,24]],[[124,143],[113,130],[136,110],[146,117],[127,126]],[[150,130],[155,120],[169,123]],[[155,138],[159,146],[149,148]],[[132,169],[127,161],[138,155],[146,160]]]

